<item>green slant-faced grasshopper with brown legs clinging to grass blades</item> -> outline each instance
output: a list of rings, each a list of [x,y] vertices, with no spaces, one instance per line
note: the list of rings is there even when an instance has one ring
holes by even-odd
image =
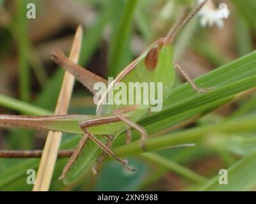
[[[108,98],[109,93],[113,91],[114,85],[118,82],[123,82],[127,86],[129,82],[146,82],[147,84],[150,82],[161,82],[163,84],[163,99],[167,98],[174,84],[175,68],[184,75],[184,78],[186,78],[196,92],[208,91],[208,88],[200,89],[184,71],[182,66],[180,66],[179,62],[173,60],[173,42],[175,37],[206,2],[207,0],[201,3],[185,19],[184,15],[182,15],[166,37],[160,38],[146,48],[140,57],[131,62],[110,84],[104,78],[70,61],[59,50],[52,52],[52,60],[74,75],[93,94],[97,93],[94,85],[99,82],[108,87],[106,92],[100,97],[99,103],[97,103],[96,115],[55,115],[43,117],[0,115],[0,126],[63,132],[68,131],[70,127],[76,127],[77,133],[83,131],[84,134],[79,145],[70,157],[60,177],[60,179],[64,179],[64,182],[71,182],[77,179],[77,175],[80,175],[81,172],[88,168],[92,168],[93,172],[97,173],[98,164],[106,156],[111,156],[122,163],[128,171],[134,171],[134,168],[128,166],[128,162],[125,159],[118,157],[111,150],[111,145],[115,138],[123,132],[126,135],[126,142],[131,142],[132,128],[141,134],[141,148],[147,149],[147,145],[145,145],[147,132],[136,122],[150,110],[151,105],[116,105],[105,104],[103,101]],[[143,98],[143,94],[138,96],[138,98]],[[85,154],[91,155],[88,161],[83,160]]]

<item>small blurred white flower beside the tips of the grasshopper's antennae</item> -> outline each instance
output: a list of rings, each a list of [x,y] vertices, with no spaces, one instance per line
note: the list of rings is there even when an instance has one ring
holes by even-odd
[[[204,0],[198,0],[198,3],[202,3]],[[202,10],[198,13],[200,15],[201,20],[200,24],[202,27],[206,27],[207,25],[213,26],[217,25],[218,27],[223,27],[223,19],[228,18],[230,15],[230,11],[228,10],[227,4],[220,4],[219,8],[216,9],[212,1],[207,1]]]

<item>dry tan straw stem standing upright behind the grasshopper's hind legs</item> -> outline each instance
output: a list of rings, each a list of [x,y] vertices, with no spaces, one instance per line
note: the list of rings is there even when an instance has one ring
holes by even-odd
[[[81,50],[81,43],[83,39],[83,29],[81,25],[77,27],[76,35],[70,52],[70,60],[77,63],[79,60],[79,53]],[[70,103],[70,98],[72,96],[72,90],[74,87],[75,78],[70,75],[67,71],[65,72],[63,78],[63,84],[61,86],[60,95],[56,105],[54,115],[66,115],[68,110],[68,105]],[[42,154],[42,159],[40,161],[38,173],[36,176],[36,183],[33,187],[33,191],[48,191],[52,173],[54,170],[54,165],[58,157],[58,149],[61,142],[61,133],[50,131],[46,142],[44,151]]]

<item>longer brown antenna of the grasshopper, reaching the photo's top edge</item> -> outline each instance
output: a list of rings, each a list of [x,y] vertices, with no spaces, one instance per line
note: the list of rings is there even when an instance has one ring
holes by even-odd
[[[180,32],[180,30],[186,25],[188,24],[188,22],[195,17],[195,15],[203,8],[203,6],[205,5],[205,3],[207,3],[208,0],[203,1],[202,3],[200,3],[195,10],[193,10],[188,17],[185,18],[185,20],[183,20],[182,18],[184,14],[182,14],[182,17],[178,20],[178,22],[173,26],[173,28],[171,29],[171,31],[168,33],[168,35],[166,36],[165,40],[164,40],[164,44],[167,43],[173,43],[173,41],[175,40],[177,34]]]

